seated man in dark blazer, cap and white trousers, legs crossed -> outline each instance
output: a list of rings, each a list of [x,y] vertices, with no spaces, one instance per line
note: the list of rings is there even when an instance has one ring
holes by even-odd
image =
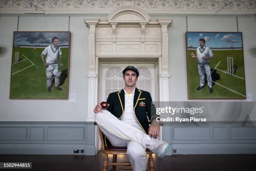
[[[95,106],[95,121],[104,133],[105,146],[126,147],[134,171],[146,171],[146,148],[163,158],[169,148],[159,135],[159,122],[151,116],[151,95],[136,88],[138,70],[128,66],[123,70],[125,87],[108,96],[108,108]],[[152,114],[153,115],[153,114]],[[151,125],[148,125],[148,118]]]

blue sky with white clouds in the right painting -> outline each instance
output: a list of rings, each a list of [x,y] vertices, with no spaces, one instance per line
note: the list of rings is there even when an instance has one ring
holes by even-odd
[[[187,33],[187,46],[198,47],[199,39],[205,38],[205,45],[210,48],[242,47],[241,33]]]

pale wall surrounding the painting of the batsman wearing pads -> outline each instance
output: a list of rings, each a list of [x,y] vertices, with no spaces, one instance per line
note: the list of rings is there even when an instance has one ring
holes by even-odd
[[[83,17],[70,17],[71,53],[69,100],[10,100],[10,66],[13,31],[18,17],[0,17],[0,121],[85,121],[87,118],[88,35]],[[69,18],[28,17],[19,19],[18,31],[67,31]],[[2,50],[3,49],[3,50]]]

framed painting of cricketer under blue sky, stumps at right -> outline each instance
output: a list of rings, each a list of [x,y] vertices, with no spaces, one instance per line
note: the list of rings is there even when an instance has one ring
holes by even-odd
[[[186,38],[188,99],[245,99],[242,33],[187,32]]]

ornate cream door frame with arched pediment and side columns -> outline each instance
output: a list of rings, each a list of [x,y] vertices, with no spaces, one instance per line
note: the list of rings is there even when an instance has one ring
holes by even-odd
[[[169,101],[168,33],[172,18],[151,19],[140,8],[124,6],[104,19],[86,18],[89,31],[89,73],[87,121],[95,121],[98,101],[99,65],[103,60],[152,60],[157,62],[158,101]],[[95,128],[95,131],[96,128]],[[97,135],[97,132],[95,132]],[[162,137],[161,137],[162,139]],[[97,146],[97,136],[95,145]],[[97,148],[96,148],[97,151]]]

